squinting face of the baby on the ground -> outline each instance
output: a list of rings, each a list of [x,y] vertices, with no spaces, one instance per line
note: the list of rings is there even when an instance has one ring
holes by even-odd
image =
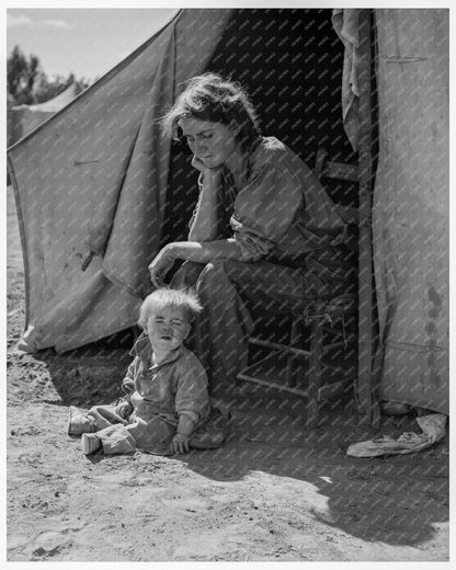
[[[171,352],[189,335],[190,323],[183,309],[169,306],[150,314],[146,330],[152,350]]]

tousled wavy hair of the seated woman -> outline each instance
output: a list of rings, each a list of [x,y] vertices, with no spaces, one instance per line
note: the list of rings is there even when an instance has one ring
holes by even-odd
[[[228,125],[243,149],[260,135],[256,112],[240,83],[217,73],[196,76],[184,83],[171,110],[161,118],[163,136],[183,139],[178,125],[181,118],[197,118]]]

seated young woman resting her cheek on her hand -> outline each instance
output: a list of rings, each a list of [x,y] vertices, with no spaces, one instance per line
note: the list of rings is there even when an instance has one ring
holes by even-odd
[[[162,128],[186,139],[200,198],[189,241],[167,244],[149,271],[159,287],[174,260],[187,262],[172,285],[194,287],[202,301],[194,350],[214,388],[233,383],[247,363],[251,304],[293,310],[347,289],[346,228],[300,158],[260,135],[238,83],[215,73],[191,79]]]

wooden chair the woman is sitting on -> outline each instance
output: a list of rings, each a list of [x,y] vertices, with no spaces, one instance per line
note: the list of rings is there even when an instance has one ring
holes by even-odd
[[[319,149],[315,172],[319,180],[335,179],[349,182],[358,181],[358,170],[352,164],[331,162],[328,153]],[[341,217],[357,226],[357,208],[338,204]],[[356,249],[356,246],[353,248]],[[283,344],[252,337],[249,342],[263,349],[272,350],[272,355],[262,358],[238,375],[238,381],[249,381],[264,387],[285,390],[297,397],[304,397],[306,404],[306,426],[316,428],[319,419],[319,403],[346,392],[357,376],[357,295],[344,294],[329,300],[304,304],[292,316],[289,343]],[[304,347],[303,337],[307,329],[308,349]],[[334,339],[335,335],[335,339]],[[260,372],[267,368],[274,355],[285,355],[285,371],[274,371],[274,379],[265,378]],[[328,362],[328,356],[331,362]],[[327,361],[323,358],[327,356]],[[354,364],[350,361],[353,360]],[[303,362],[307,361],[307,367]],[[272,364],[271,364],[272,365]],[[335,379],[334,379],[335,378]],[[332,381],[323,383],[323,379]],[[303,381],[304,380],[304,381]]]

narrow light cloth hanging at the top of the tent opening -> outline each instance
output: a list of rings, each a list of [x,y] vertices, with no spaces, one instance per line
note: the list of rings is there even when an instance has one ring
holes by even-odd
[[[357,150],[360,138],[360,91],[357,67],[360,61],[358,9],[334,8],[332,25],[345,46],[342,71],[342,118],[346,136],[353,150]]]

